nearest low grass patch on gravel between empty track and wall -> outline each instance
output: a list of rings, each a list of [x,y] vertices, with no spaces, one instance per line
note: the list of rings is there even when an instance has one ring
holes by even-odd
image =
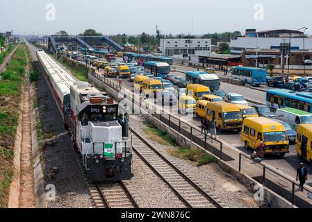
[[[197,167],[217,162],[217,158],[202,151],[200,148],[179,148],[169,151],[174,157],[196,162]]]

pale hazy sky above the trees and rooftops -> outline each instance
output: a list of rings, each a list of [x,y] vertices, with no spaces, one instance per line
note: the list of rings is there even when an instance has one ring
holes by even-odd
[[[49,3],[55,6],[55,20],[46,18],[54,17],[46,10]],[[108,35],[154,34],[157,24],[164,34],[303,26],[311,34],[311,10],[311,0],[9,0],[1,2],[0,32],[76,35],[93,28]]]

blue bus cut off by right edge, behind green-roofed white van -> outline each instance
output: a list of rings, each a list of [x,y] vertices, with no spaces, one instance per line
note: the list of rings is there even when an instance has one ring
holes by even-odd
[[[295,92],[288,89],[268,89],[265,103],[272,109],[295,108],[312,112],[312,93]]]

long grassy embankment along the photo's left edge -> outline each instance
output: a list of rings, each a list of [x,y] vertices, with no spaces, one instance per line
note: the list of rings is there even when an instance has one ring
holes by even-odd
[[[8,205],[8,192],[14,175],[13,148],[25,67],[25,45],[21,44],[13,54],[0,80],[0,208]]]

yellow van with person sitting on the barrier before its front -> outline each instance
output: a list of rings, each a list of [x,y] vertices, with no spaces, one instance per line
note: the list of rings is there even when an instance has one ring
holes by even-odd
[[[261,142],[266,145],[265,153],[280,155],[288,153],[289,142],[284,126],[266,117],[249,117],[244,119],[241,140],[246,149],[256,151]]]

